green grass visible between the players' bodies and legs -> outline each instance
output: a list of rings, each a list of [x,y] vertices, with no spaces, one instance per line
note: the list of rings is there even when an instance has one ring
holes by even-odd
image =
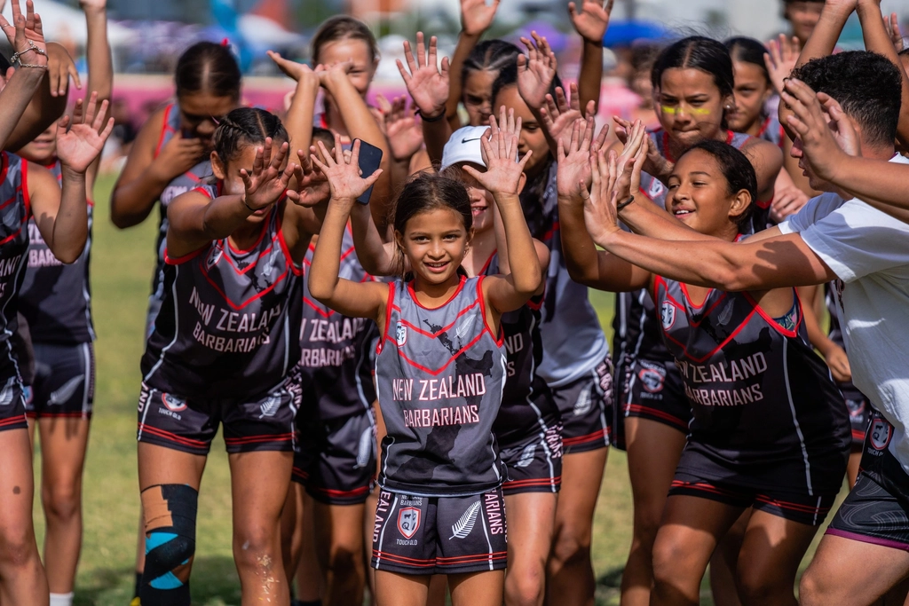
[[[125,606],[132,597],[139,495],[135,464],[135,406],[143,351],[145,306],[154,264],[155,225],[117,231],[108,204],[113,177],[97,187],[92,252],[97,385],[95,416],[85,469],[85,541],[75,588],[79,606]],[[613,295],[592,293],[607,332]],[[40,474],[40,444],[35,448]],[[239,604],[231,555],[231,500],[224,442],[212,448],[199,498],[193,598],[195,604]],[[36,485],[39,485],[36,482]],[[44,515],[35,502],[38,542]],[[632,502],[624,453],[611,452],[594,530],[597,603],[617,604],[625,555],[631,541]],[[814,552],[812,548],[811,552]],[[709,591],[704,603],[712,604]]]

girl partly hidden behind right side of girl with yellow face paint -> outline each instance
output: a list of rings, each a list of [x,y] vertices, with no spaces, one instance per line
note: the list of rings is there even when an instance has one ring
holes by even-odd
[[[792,139],[785,134],[776,112],[767,112],[767,102],[779,94],[770,78],[764,61],[767,49],[753,38],[729,38],[724,43],[733,59],[735,72],[735,104],[732,112],[726,114],[729,128],[736,133],[750,134],[779,146],[784,159],[792,149]],[[770,218],[774,224],[796,213],[808,196],[793,182],[784,166],[774,184],[774,203]]]

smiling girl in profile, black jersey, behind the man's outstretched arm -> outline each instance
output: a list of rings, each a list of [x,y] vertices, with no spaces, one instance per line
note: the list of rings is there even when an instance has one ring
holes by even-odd
[[[591,125],[584,140],[592,131]],[[616,202],[639,204],[630,192],[645,161],[643,126],[634,125],[618,160],[601,153],[591,162],[577,143],[580,124],[574,133],[559,174],[572,189],[560,206],[563,229],[572,233],[565,243],[575,249],[626,237],[647,243],[629,254],[636,265],[595,253],[599,285],[652,290],[664,343],[694,410],[654,544],[651,603],[699,603],[717,542],[752,507],[738,558],[739,597],[745,604],[795,604],[798,564],[839,492],[849,452],[847,413],[807,343],[797,295],[791,288],[720,293],[646,271],[644,251],[654,241],[617,234],[614,211]],[[674,164],[668,185],[666,209],[678,221],[701,237],[741,237],[756,195],[744,154],[719,142],[695,144]]]

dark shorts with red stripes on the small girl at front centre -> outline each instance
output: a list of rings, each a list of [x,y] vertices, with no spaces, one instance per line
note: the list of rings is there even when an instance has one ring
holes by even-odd
[[[507,556],[501,489],[469,497],[379,492],[373,526],[375,570],[400,574],[501,571]]]

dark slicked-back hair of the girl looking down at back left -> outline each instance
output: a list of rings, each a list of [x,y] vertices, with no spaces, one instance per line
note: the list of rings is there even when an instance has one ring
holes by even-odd
[[[240,98],[240,66],[230,48],[197,42],[177,59],[174,73],[176,96],[205,91],[216,97]]]

